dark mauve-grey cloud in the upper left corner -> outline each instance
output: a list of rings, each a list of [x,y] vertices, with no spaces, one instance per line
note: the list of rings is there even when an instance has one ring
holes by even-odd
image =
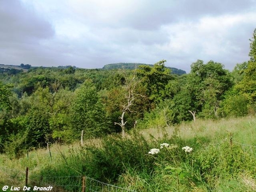
[[[51,25],[36,13],[26,10],[19,1],[0,1],[0,36],[13,41],[48,38],[54,35]]]

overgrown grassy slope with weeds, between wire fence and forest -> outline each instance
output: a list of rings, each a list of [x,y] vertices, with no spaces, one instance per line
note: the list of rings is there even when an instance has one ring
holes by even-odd
[[[140,192],[256,191],[254,116],[137,129],[126,138],[111,135],[84,146],[52,145],[52,157],[46,149],[18,160],[0,155],[0,165],[21,172],[28,166],[31,178],[87,175]],[[172,147],[148,154],[161,143]],[[183,151],[184,146],[192,152]]]

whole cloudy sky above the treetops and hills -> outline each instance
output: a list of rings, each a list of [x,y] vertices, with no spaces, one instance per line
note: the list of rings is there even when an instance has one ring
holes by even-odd
[[[256,0],[0,0],[0,64],[101,68],[134,62],[189,72],[249,59]]]

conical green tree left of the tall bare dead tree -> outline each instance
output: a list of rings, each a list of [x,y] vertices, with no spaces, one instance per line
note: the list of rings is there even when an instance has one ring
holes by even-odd
[[[89,138],[108,133],[106,111],[91,80],[84,81],[76,90],[72,108],[71,121],[73,127],[81,131],[81,145],[83,145],[84,134]]]

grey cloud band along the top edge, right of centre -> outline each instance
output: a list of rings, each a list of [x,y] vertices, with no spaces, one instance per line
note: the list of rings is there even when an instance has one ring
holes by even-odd
[[[136,12],[120,17],[118,25],[139,30],[155,30],[179,20],[196,20],[202,15],[222,15],[252,9],[254,0],[145,0]],[[129,10],[127,10],[129,12]],[[117,16],[117,15],[116,15]],[[116,23],[115,23],[116,24]]]

